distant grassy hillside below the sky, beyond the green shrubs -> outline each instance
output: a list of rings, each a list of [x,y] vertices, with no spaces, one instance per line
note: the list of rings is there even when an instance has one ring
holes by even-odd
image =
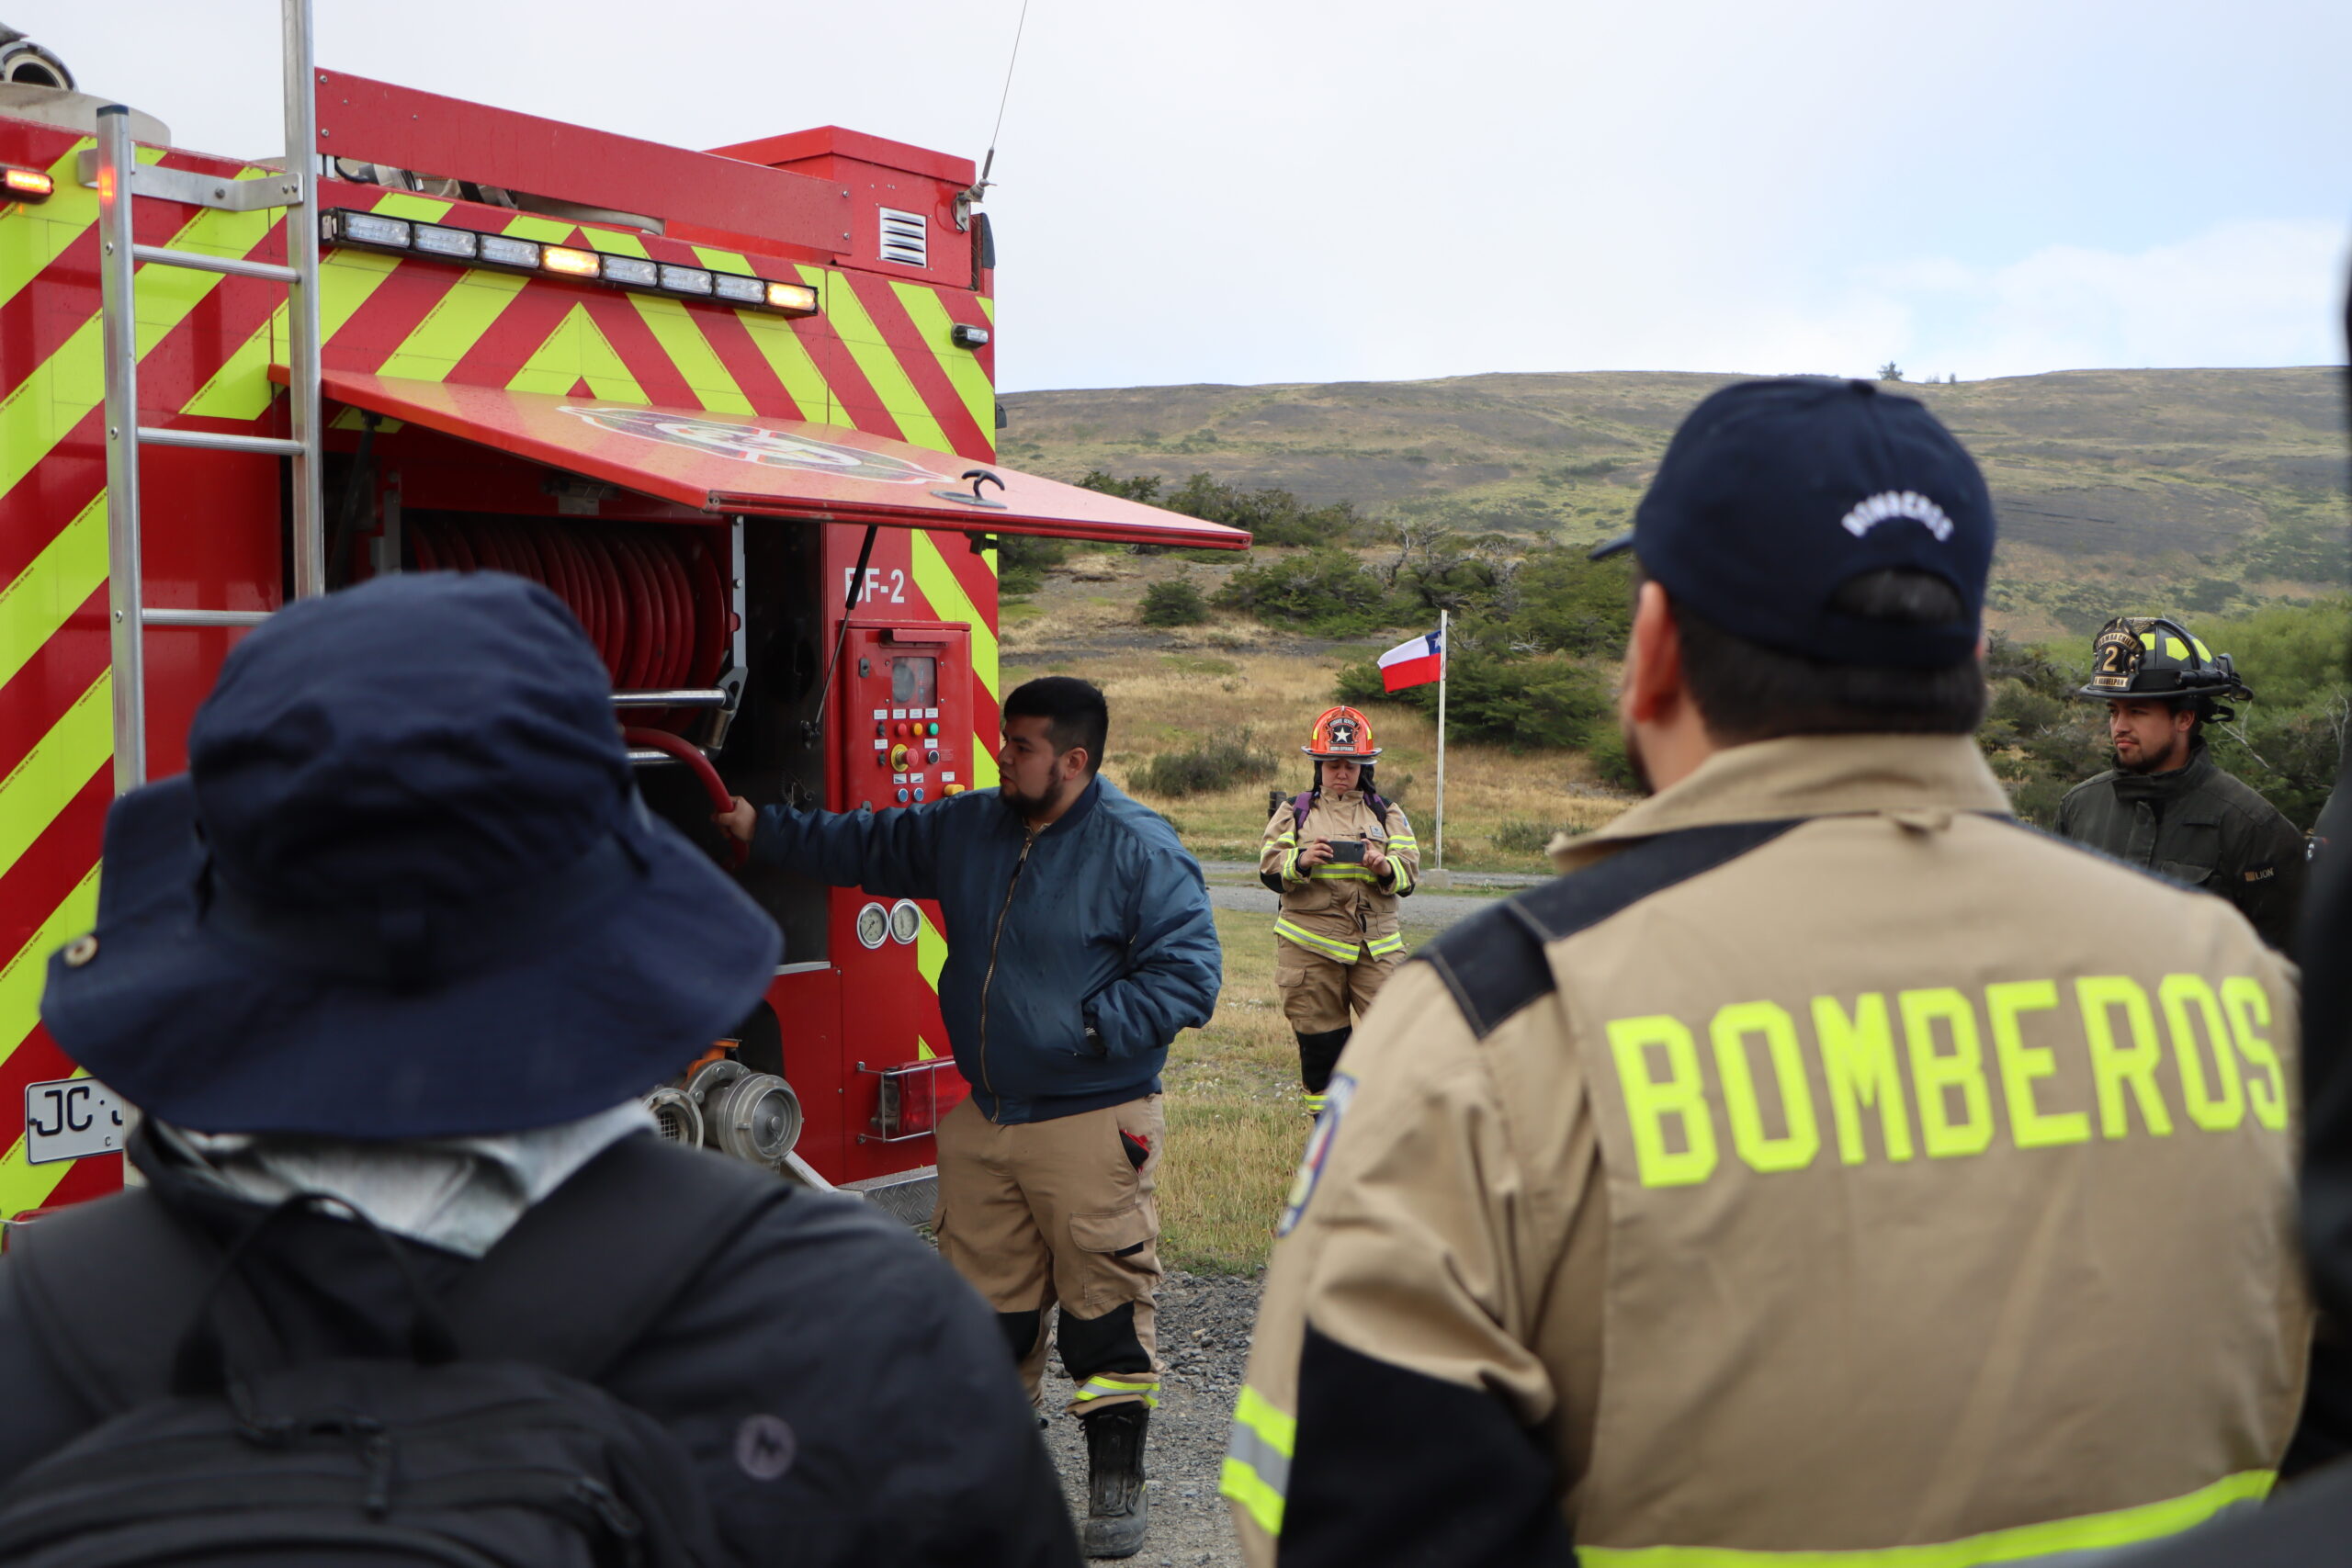
[[[1209,473],[1317,505],[1573,543],[1625,524],[1679,418],[1724,381],[1595,371],[1014,393],[1004,461],[1171,487]],[[2211,616],[2345,581],[2336,371],[2058,371],[1903,390],[1992,482],[1999,630],[2084,637],[2112,614]]]

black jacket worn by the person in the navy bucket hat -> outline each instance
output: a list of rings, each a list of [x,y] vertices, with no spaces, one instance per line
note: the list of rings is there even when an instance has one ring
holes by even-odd
[[[216,1239],[261,1213],[143,1143],[134,1157],[155,1194]],[[402,1246],[433,1291],[473,1267]],[[355,1225],[289,1218],[256,1251],[247,1279],[289,1359],[400,1354],[407,1288]],[[854,1199],[779,1182],[779,1199],[600,1382],[694,1455],[720,1540],[746,1568],[1080,1561],[995,1319],[910,1232]],[[757,1413],[797,1439],[774,1481],[736,1462],[736,1432]],[[0,1486],[99,1418],[45,1354],[0,1260]]]

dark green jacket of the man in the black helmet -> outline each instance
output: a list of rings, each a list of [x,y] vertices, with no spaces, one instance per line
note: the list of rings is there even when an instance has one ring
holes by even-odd
[[[2058,835],[2220,893],[2265,943],[2293,952],[2303,835],[2204,745],[2173,773],[2107,771],[2058,802]]]

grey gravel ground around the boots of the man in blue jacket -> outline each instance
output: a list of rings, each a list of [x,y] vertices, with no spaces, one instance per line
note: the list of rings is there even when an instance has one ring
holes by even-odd
[[[1160,1408],[1143,1465],[1150,1474],[1152,1526],[1131,1563],[1138,1568],[1240,1568],[1216,1472],[1225,1460],[1225,1425],[1249,1363],[1249,1328],[1258,1316],[1256,1279],[1169,1274],[1160,1286]],[[1056,1363],[1047,1373],[1049,1410],[1070,1401]],[[1087,1436],[1056,1415],[1047,1429],[1061,1467],[1070,1516],[1087,1516]]]

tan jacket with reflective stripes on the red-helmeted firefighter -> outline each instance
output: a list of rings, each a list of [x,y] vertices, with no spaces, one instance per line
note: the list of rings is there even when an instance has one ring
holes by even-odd
[[[1327,860],[1312,872],[1298,867],[1298,851],[1315,839],[1367,839],[1388,856],[1388,872],[1374,877],[1362,865]],[[1414,891],[1421,875],[1421,842],[1404,818],[1404,806],[1388,802],[1388,818],[1371,809],[1362,790],[1319,792],[1308,804],[1305,830],[1296,806],[1284,799],[1265,823],[1265,849],[1258,853],[1258,877],[1282,893],[1275,936],[1322,954],[1336,964],[1355,964],[1359,950],[1381,959],[1404,952],[1397,929],[1397,898]]]

